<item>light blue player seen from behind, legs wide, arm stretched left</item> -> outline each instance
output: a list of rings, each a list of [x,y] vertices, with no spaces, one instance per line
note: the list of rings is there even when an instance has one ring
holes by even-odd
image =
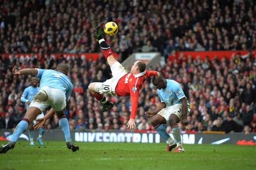
[[[42,127],[45,121],[56,113],[59,118],[59,126],[62,128],[65,135],[67,148],[71,149],[73,152],[79,150],[79,147],[72,143],[69,123],[64,114],[67,105],[66,101],[73,90],[73,85],[67,77],[68,71],[69,67],[67,64],[58,64],[56,70],[32,68],[17,70],[16,67],[13,68],[14,75],[19,76],[30,74],[40,78],[41,81],[39,91],[30,103],[24,118],[16,126],[10,142],[0,147],[0,153],[6,153],[8,150],[14,148],[17,139],[24,131],[27,130],[30,122],[32,122],[36,116],[48,106],[51,106],[52,108],[43,118],[37,119],[37,123],[34,125],[34,128]]]

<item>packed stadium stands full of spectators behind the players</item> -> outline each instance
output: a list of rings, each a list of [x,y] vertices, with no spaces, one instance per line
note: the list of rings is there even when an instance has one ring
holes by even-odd
[[[151,69],[181,83],[192,106],[189,125],[182,131],[256,132],[254,0],[0,0],[0,128],[14,129],[25,113],[20,96],[31,77],[13,79],[12,67],[55,69],[64,62],[70,65],[74,84],[65,112],[70,129],[127,130],[129,97],[108,96],[115,107],[100,114],[98,101],[87,89],[90,82],[111,77],[92,34],[89,7],[102,23],[118,24],[119,33],[106,40],[120,62],[134,52],[160,52],[164,57],[166,65]],[[207,57],[207,51],[217,50],[243,54]],[[189,51],[206,55],[192,57]],[[59,59],[51,55],[56,53]],[[77,57],[64,57],[67,53]],[[19,54],[30,57],[16,57]],[[148,79],[139,96],[136,131],[153,130],[144,112],[159,102]],[[58,128],[56,116],[46,128]]]

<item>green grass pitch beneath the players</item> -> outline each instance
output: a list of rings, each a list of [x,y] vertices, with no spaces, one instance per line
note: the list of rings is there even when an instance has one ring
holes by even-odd
[[[2,144],[3,142],[0,142]],[[0,170],[253,170],[256,147],[184,145],[185,153],[168,153],[164,143],[80,143],[72,153],[65,142],[27,141],[0,154]]]

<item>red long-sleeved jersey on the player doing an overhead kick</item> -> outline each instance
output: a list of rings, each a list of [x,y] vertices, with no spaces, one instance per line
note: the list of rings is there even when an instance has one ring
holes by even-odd
[[[149,76],[157,76],[157,71],[144,71],[137,75],[127,73],[117,82],[115,94],[117,96],[131,96],[132,113],[130,118],[135,118],[136,116],[139,90],[142,88]]]

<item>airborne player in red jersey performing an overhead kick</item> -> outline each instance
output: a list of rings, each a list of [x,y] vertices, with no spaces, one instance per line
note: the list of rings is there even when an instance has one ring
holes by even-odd
[[[147,77],[159,76],[159,72],[146,71],[146,64],[141,61],[136,61],[130,73],[127,73],[124,67],[114,58],[112,50],[102,37],[102,31],[99,26],[95,28],[94,36],[99,40],[102,53],[107,59],[113,77],[103,83],[90,83],[88,88],[92,92],[92,95],[102,103],[101,111],[107,111],[109,108],[113,107],[113,103],[103,96],[104,93],[115,96],[131,96],[132,111],[127,123],[127,128],[132,129],[133,126],[135,126],[139,90],[144,85]]]

